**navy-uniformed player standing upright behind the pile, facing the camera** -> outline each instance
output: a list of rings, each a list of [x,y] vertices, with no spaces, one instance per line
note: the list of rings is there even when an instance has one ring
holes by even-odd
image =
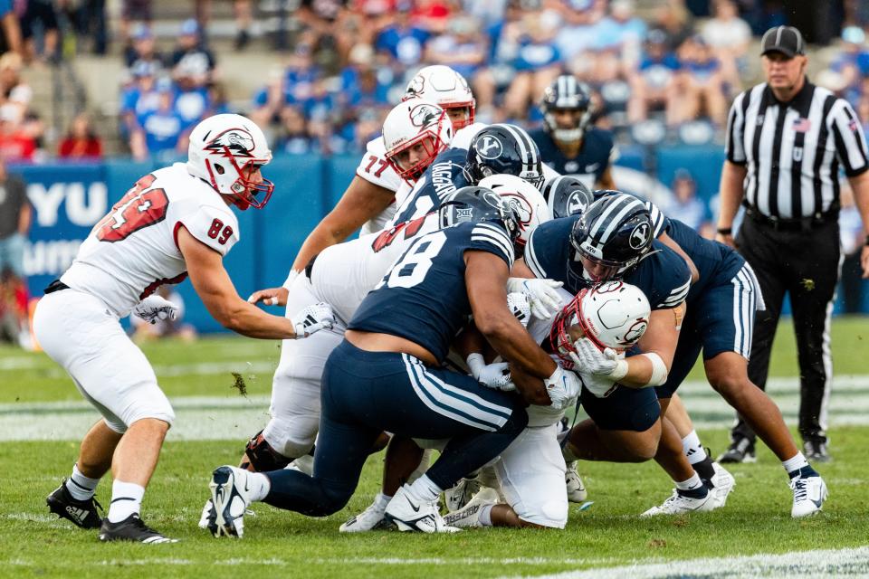
[[[615,189],[611,166],[618,158],[609,131],[591,125],[591,90],[562,74],[543,92],[543,127],[530,131],[547,166],[576,176],[588,187]]]

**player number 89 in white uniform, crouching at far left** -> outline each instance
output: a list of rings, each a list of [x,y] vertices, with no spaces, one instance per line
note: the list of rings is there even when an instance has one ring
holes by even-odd
[[[189,275],[212,316],[244,336],[291,339],[330,326],[326,306],[311,305],[296,318],[263,313],[238,296],[224,270],[224,255],[239,239],[231,207],[268,203],[274,185],[261,170],[271,160],[252,121],[238,115],[203,120],[190,135],[187,162],[139,179],[39,300],[37,339],[102,414],[81,441],[72,475],[48,496],[48,507],[79,527],[99,527],[102,541],[172,541],[148,527],[139,511],[175,414],[119,318],[134,308],[143,318],[171,316],[171,305],[151,294]],[[94,492],[109,469],[111,504],[100,519]]]

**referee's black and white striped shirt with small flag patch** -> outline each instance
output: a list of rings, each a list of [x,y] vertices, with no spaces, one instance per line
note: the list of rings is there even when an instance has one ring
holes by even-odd
[[[778,219],[837,211],[839,167],[849,177],[869,169],[854,109],[809,81],[788,103],[766,83],[740,94],[727,121],[726,152],[748,169],[744,204]]]

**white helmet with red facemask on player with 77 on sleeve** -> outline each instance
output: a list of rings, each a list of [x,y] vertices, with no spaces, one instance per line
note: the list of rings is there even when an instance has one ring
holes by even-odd
[[[449,147],[452,139],[453,126],[446,112],[429,100],[403,100],[383,121],[387,161],[410,185]],[[425,148],[425,154],[412,158],[415,153],[411,148],[417,144]]]

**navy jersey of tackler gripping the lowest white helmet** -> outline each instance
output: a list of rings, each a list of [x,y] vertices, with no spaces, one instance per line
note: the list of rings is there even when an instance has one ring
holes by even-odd
[[[582,263],[572,261],[569,235],[579,215],[540,223],[525,246],[525,263],[538,278],[564,282],[564,289],[578,293],[589,285]],[[691,288],[691,271],[682,257],[662,242],[652,242],[652,251],[627,272],[624,280],[643,290],[652,309],[674,308]]]

